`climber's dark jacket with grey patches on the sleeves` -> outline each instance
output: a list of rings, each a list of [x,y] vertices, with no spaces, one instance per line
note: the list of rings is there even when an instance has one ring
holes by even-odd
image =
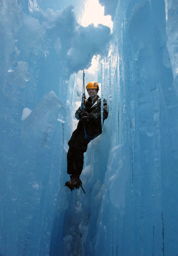
[[[102,133],[102,121],[101,121],[101,98],[97,96],[96,101],[94,104],[91,102],[91,98],[89,97],[86,102],[86,109],[84,110],[88,112],[90,117],[90,122],[94,126],[96,126],[96,132],[101,134]],[[82,105],[75,113],[75,117],[77,120],[81,120],[81,114],[83,112]],[[103,123],[104,120],[108,118],[108,109],[107,109],[107,100],[103,100]]]

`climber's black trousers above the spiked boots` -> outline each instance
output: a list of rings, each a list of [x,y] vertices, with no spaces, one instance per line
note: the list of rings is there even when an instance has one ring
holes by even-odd
[[[90,137],[98,136],[96,134],[96,126],[91,122],[85,125],[86,135]],[[67,173],[80,175],[84,165],[84,152],[87,150],[89,139],[84,139],[84,125],[82,122],[78,122],[76,130],[72,133],[72,137],[68,142],[68,153],[67,153]]]

